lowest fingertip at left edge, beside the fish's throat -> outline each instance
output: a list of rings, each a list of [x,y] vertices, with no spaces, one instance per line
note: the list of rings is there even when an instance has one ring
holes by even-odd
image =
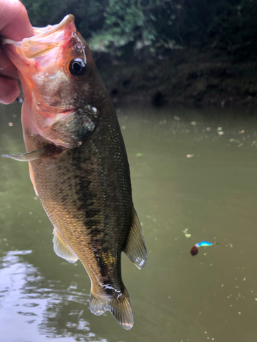
[[[0,77],[0,102],[5,105],[12,103],[20,94],[20,87],[16,79]]]

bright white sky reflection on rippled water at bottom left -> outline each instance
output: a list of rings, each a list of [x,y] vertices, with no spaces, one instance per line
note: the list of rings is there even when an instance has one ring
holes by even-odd
[[[40,339],[45,335],[65,337],[64,341],[105,342],[90,332],[89,322],[82,318],[88,294],[77,291],[76,282],[66,288],[60,281],[46,280],[23,258],[29,253],[10,251],[0,259],[1,341],[35,341],[33,335],[36,341],[45,341]]]

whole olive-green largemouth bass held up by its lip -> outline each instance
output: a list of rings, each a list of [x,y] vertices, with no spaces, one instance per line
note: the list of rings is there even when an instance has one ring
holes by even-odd
[[[121,129],[92,54],[69,14],[34,28],[21,42],[2,39],[23,88],[27,153],[34,190],[53,224],[53,249],[82,262],[90,311],[110,311],[126,330],[134,318],[121,277],[121,252],[141,269],[147,250],[134,209]]]

